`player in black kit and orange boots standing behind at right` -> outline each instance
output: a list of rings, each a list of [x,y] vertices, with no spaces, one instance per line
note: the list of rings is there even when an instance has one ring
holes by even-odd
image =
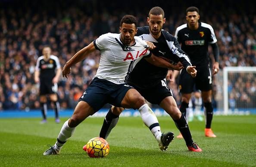
[[[176,29],[175,37],[181,44],[181,49],[186,52],[196,66],[197,77],[192,78],[187,72],[181,70],[179,79],[179,90],[181,92],[180,110],[186,115],[189,99],[194,90],[202,91],[203,103],[206,115],[206,137],[216,137],[211,129],[213,107],[212,107],[212,73],[219,72],[219,48],[211,25],[200,22],[199,9],[191,6],[186,10],[187,24]],[[215,62],[212,65],[212,73],[209,68],[208,45],[212,46]],[[183,136],[184,137],[184,136]]]

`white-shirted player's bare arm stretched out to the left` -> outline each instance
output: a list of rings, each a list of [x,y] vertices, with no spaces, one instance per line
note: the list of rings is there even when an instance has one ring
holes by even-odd
[[[71,66],[84,60],[84,58],[86,58],[91,52],[94,52],[95,50],[96,48],[92,42],[88,46],[78,51],[69,61],[66,62],[62,70],[62,76],[68,78],[68,75],[71,72]]]

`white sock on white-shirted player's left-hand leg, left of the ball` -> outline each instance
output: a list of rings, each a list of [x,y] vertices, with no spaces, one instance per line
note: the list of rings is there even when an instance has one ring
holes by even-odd
[[[75,132],[75,128],[70,128],[68,122],[69,122],[69,120],[67,120],[63,124],[63,126],[59,132],[57,141],[56,141],[55,145],[53,146],[54,149],[60,150],[62,148],[62,146],[66,143],[66,141],[69,139],[69,137],[71,137],[72,134]]]

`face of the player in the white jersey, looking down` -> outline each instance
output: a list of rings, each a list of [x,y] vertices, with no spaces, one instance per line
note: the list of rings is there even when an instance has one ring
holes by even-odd
[[[120,27],[121,41],[125,45],[132,45],[134,43],[134,36],[137,33],[135,24],[123,23]]]

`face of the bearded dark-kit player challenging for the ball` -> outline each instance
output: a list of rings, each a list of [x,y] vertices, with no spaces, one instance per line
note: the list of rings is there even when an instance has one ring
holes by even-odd
[[[162,18],[162,15],[152,15],[147,18],[147,22],[150,27],[150,32],[153,35],[159,35],[162,30],[162,26],[165,23],[165,18]]]

